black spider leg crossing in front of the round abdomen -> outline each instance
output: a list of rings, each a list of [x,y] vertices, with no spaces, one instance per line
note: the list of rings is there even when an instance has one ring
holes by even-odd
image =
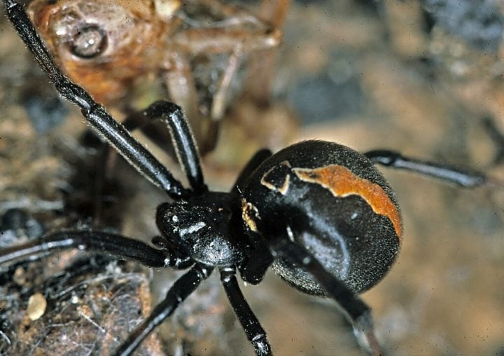
[[[304,247],[287,238],[279,238],[268,242],[268,244],[269,251],[274,258],[287,259],[313,275],[325,289],[325,292],[337,301],[346,312],[353,324],[353,332],[359,341],[367,343],[372,355],[381,355],[379,343],[374,335],[371,309],[360,299],[358,294],[352,292],[342,281],[325,271],[321,263],[311,256]]]

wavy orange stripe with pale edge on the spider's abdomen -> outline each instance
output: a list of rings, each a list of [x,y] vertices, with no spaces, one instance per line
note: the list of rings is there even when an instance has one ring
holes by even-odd
[[[356,194],[363,198],[374,212],[388,217],[392,221],[399,240],[402,238],[402,225],[397,206],[381,186],[357,177],[346,167],[328,165],[321,168],[293,168],[304,182],[319,184],[334,196],[345,197]]]

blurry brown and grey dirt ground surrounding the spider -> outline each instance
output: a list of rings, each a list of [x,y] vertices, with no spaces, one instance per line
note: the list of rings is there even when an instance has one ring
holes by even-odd
[[[504,129],[504,46],[468,39],[444,26],[441,12],[428,17],[420,5],[294,2],[277,55],[275,107],[258,117],[245,101],[235,104],[217,149],[204,159],[209,185],[227,189],[258,146],[279,149],[314,138],[359,151],[398,150],[504,182],[503,142],[492,138]],[[472,18],[484,19],[485,6]],[[504,11],[496,7],[496,14],[500,24]],[[0,42],[0,248],[76,226],[144,240],[155,235],[160,191],[118,160],[106,196],[94,197],[98,153],[83,144],[78,110],[54,101],[52,86],[3,15]],[[31,105],[39,114],[27,114]],[[155,153],[181,177],[171,158]],[[503,355],[504,184],[461,189],[381,171],[397,193],[405,229],[397,263],[363,294],[385,354]],[[96,199],[100,221],[90,217]],[[5,355],[108,355],[180,275],[76,252],[0,272]],[[218,284],[216,275],[205,281],[139,354],[252,355]],[[272,272],[242,289],[275,355],[364,353],[335,303],[304,296]],[[35,292],[45,292],[48,308],[31,321],[26,310]]]

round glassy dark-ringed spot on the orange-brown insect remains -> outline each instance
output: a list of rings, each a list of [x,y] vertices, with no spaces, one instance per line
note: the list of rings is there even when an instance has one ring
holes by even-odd
[[[81,58],[93,58],[103,53],[107,46],[107,37],[102,28],[94,24],[80,27],[71,41],[70,50]]]

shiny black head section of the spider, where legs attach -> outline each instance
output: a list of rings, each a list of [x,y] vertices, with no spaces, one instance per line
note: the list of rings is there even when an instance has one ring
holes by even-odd
[[[161,233],[195,261],[230,266],[243,259],[244,244],[232,233],[232,210],[226,193],[162,204],[156,221]]]

